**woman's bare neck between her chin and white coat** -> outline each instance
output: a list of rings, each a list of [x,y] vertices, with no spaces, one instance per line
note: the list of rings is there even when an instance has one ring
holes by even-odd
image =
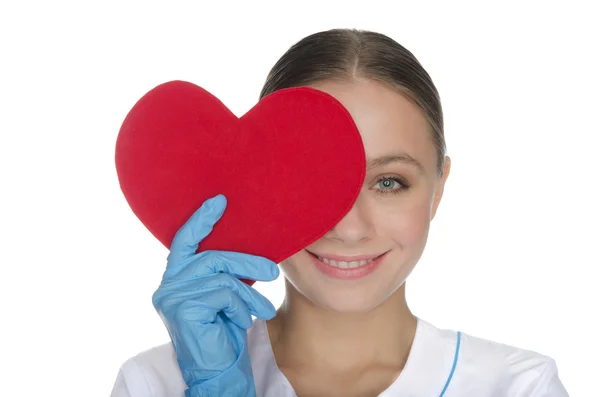
[[[368,312],[334,313],[315,306],[286,280],[285,300],[267,322],[277,365],[324,372],[401,370],[417,326],[405,285]]]

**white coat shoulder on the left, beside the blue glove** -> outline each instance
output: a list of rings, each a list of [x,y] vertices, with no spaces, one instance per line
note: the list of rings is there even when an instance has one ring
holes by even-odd
[[[125,361],[111,397],[183,396],[185,389],[175,349],[169,342]]]

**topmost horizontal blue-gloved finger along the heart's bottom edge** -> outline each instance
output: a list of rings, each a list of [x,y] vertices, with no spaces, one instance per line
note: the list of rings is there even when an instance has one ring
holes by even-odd
[[[256,255],[230,251],[204,251],[169,271],[165,280],[191,280],[215,273],[228,273],[236,278],[273,281],[279,267],[272,260]]]

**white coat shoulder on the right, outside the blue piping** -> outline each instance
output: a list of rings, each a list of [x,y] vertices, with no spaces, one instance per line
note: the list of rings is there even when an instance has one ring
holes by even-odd
[[[426,324],[430,332],[448,339],[448,330]],[[458,342],[456,368],[448,391],[456,388],[474,389],[481,395],[568,397],[551,357],[463,332]]]

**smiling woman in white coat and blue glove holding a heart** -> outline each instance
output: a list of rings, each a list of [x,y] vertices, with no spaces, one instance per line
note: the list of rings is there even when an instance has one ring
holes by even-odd
[[[208,200],[153,297],[172,343],[128,360],[113,396],[567,396],[551,358],[438,329],[407,305],[450,172],[439,96],[415,57],[382,34],[320,32],[283,55],[261,97],[293,86],[332,95],[358,126],[369,163],[353,208],[280,264],[275,313],[238,280],[273,280],[275,263],[195,255],[226,207]]]

